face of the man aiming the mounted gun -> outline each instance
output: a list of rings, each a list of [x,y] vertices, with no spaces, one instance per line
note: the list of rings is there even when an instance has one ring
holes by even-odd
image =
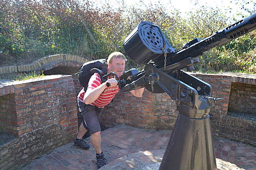
[[[125,60],[123,58],[113,58],[109,63],[109,69],[115,72],[118,77],[122,76],[125,67]]]

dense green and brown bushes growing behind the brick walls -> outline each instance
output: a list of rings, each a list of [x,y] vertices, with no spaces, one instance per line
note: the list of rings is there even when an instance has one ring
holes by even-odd
[[[242,1],[242,2],[241,2]],[[161,1],[115,8],[102,0],[2,0],[0,2],[0,65],[31,63],[53,54],[72,54],[90,59],[106,58],[113,51],[124,53],[124,38],[142,20],[158,25],[177,49],[194,39],[208,37],[246,13],[252,1],[234,0],[242,12],[237,18],[229,11],[202,6],[182,17],[179,10],[167,9]],[[144,7],[144,8],[141,8]],[[230,9],[231,11],[232,9]],[[244,11],[244,12],[243,12]],[[256,74],[255,31],[199,57],[196,71],[243,71]],[[138,67],[128,60],[127,69]]]

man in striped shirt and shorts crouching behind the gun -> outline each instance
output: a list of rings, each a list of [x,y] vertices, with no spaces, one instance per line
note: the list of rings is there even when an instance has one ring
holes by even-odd
[[[115,72],[120,77],[124,72],[125,57],[120,52],[114,52],[108,57],[108,72]],[[106,86],[110,83],[110,87]],[[102,108],[108,105],[119,91],[115,78],[108,79],[102,83],[100,77],[95,73],[89,83],[86,92],[84,89],[78,94],[79,111],[82,113],[83,121],[79,127],[79,132],[75,138],[74,145],[82,149],[89,149],[89,145],[82,140],[82,136],[89,131],[90,141],[96,150],[96,159],[98,168],[106,164],[104,155],[101,150],[101,136],[98,114],[102,112]],[[144,88],[130,91],[134,96],[141,97]]]

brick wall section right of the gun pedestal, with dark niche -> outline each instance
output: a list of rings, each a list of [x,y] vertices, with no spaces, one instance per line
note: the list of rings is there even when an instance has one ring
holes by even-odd
[[[229,106],[237,105],[241,103],[242,107],[246,107],[245,110],[251,110],[253,107],[248,107],[253,103],[253,93],[251,96],[247,96],[248,104],[245,104],[243,100],[235,97],[232,94],[236,91],[236,85],[248,86],[251,89],[256,88],[256,76],[246,74],[194,74],[194,76],[202,79],[203,81],[211,84],[212,96],[216,95],[216,98],[224,98],[224,100],[217,102],[210,111],[210,120],[212,133],[215,136],[226,137],[234,139],[252,145],[256,145],[256,136],[254,134],[256,130],[256,122],[245,118],[233,117],[228,115]],[[242,88],[245,89],[245,88]],[[241,90],[242,94],[248,94],[248,92]],[[232,109],[232,108],[231,108]],[[240,110],[240,114],[244,114],[245,110]],[[254,113],[255,114],[255,113]]]

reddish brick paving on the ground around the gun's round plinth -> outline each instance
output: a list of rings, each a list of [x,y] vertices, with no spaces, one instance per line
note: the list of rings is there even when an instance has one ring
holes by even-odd
[[[131,154],[134,154],[134,159],[137,159],[136,155],[138,154],[136,153],[140,151],[158,150],[155,154],[162,153],[166,148],[171,131],[149,131],[117,125],[102,131],[101,134],[102,150],[107,163],[111,165],[112,161],[124,156],[133,156]],[[217,158],[236,164],[242,169],[256,170],[256,147],[224,138],[214,138],[213,140]],[[91,145],[91,143],[89,144]],[[146,163],[146,159],[143,160]],[[94,170],[97,169],[95,151],[92,145],[90,150],[82,150],[74,147],[72,142],[19,168],[19,170],[27,169]]]

